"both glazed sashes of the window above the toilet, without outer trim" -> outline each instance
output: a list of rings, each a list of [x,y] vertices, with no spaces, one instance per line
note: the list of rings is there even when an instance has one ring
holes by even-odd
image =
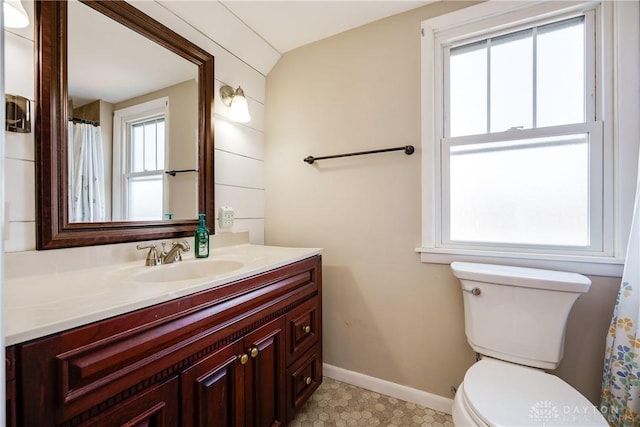
[[[602,250],[593,14],[444,48],[444,245]]]

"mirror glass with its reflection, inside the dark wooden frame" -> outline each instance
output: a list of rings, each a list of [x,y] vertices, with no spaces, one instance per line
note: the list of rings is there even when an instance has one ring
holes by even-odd
[[[198,67],[68,3],[69,222],[194,219]]]

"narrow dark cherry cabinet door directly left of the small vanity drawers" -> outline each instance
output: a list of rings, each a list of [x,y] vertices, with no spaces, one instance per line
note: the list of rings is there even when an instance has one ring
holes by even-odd
[[[247,427],[285,425],[284,317],[258,328],[244,339]]]

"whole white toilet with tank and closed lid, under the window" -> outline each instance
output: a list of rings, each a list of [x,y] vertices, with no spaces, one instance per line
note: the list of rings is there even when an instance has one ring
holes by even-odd
[[[481,355],[453,403],[461,426],[608,426],[596,407],[560,378],[567,318],[591,281],[575,273],[454,262],[465,330]]]

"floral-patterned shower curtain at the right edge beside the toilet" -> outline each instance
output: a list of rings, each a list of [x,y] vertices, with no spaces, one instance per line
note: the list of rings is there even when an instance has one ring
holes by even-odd
[[[607,336],[601,410],[612,426],[640,426],[640,177],[622,283]]]

